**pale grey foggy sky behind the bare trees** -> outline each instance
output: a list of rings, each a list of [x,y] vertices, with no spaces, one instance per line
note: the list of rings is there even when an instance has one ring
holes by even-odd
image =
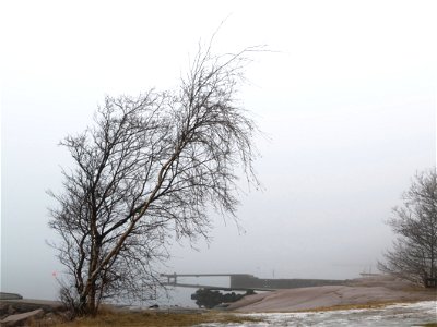
[[[268,45],[240,97],[264,191],[241,196],[245,231],[175,245],[167,272],[353,278],[393,235],[383,220],[436,164],[435,1],[2,1],[1,290],[56,296],[45,191],[61,190],[57,143],[104,95],[172,88],[226,19],[217,53]]]

